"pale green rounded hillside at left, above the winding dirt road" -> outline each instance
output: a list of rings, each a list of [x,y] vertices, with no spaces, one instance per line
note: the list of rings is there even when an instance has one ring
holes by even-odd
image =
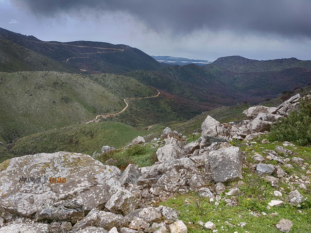
[[[62,72],[1,72],[0,132],[5,141],[119,112],[124,97],[155,94],[129,77],[91,78],[101,84],[89,76]]]

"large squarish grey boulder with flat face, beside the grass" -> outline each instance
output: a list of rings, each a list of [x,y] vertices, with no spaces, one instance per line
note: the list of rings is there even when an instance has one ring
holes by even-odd
[[[207,155],[211,177],[215,182],[242,178],[243,155],[238,147],[221,148]]]

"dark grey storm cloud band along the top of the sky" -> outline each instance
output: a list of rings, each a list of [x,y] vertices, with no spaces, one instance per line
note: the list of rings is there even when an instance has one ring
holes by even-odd
[[[228,30],[311,38],[310,0],[12,0],[38,16],[126,12],[156,32]]]

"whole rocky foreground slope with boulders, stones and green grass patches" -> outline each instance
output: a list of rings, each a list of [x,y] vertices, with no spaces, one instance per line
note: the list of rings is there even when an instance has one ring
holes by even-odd
[[[188,144],[166,128],[152,166],[121,171],[69,152],[5,161],[0,233],[308,232],[311,150],[267,134],[300,98],[251,107],[240,123],[207,116]]]

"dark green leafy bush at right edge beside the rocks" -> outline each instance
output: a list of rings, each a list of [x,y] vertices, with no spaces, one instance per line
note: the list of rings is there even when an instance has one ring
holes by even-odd
[[[271,137],[277,141],[290,141],[303,146],[311,144],[311,100],[301,100],[299,110],[294,110],[271,127]]]

